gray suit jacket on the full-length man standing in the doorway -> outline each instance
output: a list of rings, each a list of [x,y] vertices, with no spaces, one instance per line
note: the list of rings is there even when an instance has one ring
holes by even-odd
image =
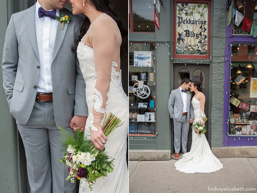
[[[187,121],[194,119],[194,109],[190,102],[192,93],[189,92],[187,96]],[[183,111],[183,99],[179,88],[172,90],[168,102],[168,109],[170,112],[170,118],[174,118],[174,121],[180,121]]]

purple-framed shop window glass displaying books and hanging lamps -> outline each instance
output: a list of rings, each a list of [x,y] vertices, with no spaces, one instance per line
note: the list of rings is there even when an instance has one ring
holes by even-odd
[[[257,45],[232,44],[229,135],[257,135]]]

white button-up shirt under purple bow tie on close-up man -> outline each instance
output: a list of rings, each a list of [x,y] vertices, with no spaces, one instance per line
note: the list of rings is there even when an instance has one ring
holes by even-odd
[[[55,45],[55,36],[57,31],[58,19],[52,19],[45,16],[39,18],[38,9],[42,7],[37,1],[35,12],[37,47],[40,62],[40,75],[37,92],[53,92],[51,64],[53,58],[53,49]],[[44,8],[44,7],[43,7]],[[51,10],[49,10],[51,11]],[[56,15],[59,16],[60,9],[56,9]]]

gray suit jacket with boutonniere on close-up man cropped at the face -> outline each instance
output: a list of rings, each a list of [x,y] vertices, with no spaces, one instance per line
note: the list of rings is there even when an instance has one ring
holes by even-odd
[[[67,9],[60,13],[71,16],[71,21],[63,30],[58,21],[51,64],[53,107],[56,124],[68,127],[74,115],[88,116],[85,81],[77,54],[71,51],[83,18]],[[37,66],[40,62],[33,5],[11,16],[3,48],[3,87],[10,112],[21,124],[27,123],[35,103],[40,72]]]

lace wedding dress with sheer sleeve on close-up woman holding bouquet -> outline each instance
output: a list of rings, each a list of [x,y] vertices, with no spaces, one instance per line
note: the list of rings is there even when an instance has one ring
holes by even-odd
[[[123,121],[105,144],[105,151],[114,158],[114,171],[104,180],[95,182],[93,193],[128,192],[126,162],[128,136],[128,97],[123,91],[120,70],[121,35],[115,21],[102,13],[82,38],[77,48],[81,72],[86,83],[89,117],[86,129],[101,129],[104,113],[113,113]],[[119,70],[119,71],[117,71]],[[87,182],[81,182],[79,192],[89,192]]]

